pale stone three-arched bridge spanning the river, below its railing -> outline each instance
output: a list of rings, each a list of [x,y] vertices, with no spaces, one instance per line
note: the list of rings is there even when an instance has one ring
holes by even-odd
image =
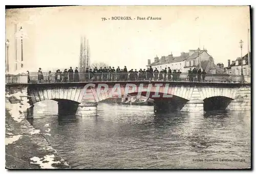
[[[9,94],[22,92],[31,107],[43,100],[58,102],[59,114],[97,115],[97,103],[110,97],[141,95],[154,99],[155,112],[202,112],[206,110],[250,110],[250,83],[212,82],[71,82],[6,84]],[[23,98],[23,97],[22,97]]]

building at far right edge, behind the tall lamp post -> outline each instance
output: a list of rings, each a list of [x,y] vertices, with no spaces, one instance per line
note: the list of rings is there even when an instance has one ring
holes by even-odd
[[[250,74],[250,68],[248,66],[248,53],[243,56],[243,74],[245,76],[248,76]],[[250,58],[251,62],[251,58]],[[238,57],[236,60],[233,60],[230,63],[230,59],[227,61],[228,66],[225,67],[225,70],[227,71],[228,74],[231,73],[231,75],[241,75],[241,70],[242,70],[242,61],[241,57]]]

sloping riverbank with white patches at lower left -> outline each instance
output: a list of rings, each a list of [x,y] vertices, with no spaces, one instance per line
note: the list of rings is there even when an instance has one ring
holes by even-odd
[[[44,134],[35,129],[23,114],[12,115],[14,105],[18,104],[11,104],[6,100],[6,168],[70,168],[45,139]]]

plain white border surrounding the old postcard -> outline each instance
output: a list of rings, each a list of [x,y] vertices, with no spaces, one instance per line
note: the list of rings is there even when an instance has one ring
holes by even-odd
[[[1,49],[1,53],[2,53],[2,57],[5,57],[5,7],[4,5],[251,5],[252,8],[255,7],[255,1],[254,0],[243,0],[243,1],[238,1],[238,0],[233,0],[233,1],[227,1],[227,0],[215,0],[215,1],[203,1],[203,0],[194,0],[194,1],[185,1],[185,0],[179,0],[179,1],[138,1],[138,0],[113,0],[113,1],[104,1],[104,0],[94,0],[94,1],[78,1],[78,0],[72,0],[72,1],[67,1],[67,0],[45,0],[45,1],[33,1],[33,0],[23,0],[23,1],[14,1],[14,0],[2,0],[0,2],[1,4],[1,40],[2,42],[0,43],[0,49]],[[255,9],[254,9],[255,10]],[[254,11],[255,14],[255,11]],[[254,18],[254,15],[252,16]],[[254,37],[253,37],[254,39]],[[252,48],[254,50],[254,47]],[[253,52],[254,53],[254,52]],[[253,54],[254,55],[254,54]],[[255,62],[253,61],[253,67],[255,67]],[[1,135],[1,139],[4,140],[5,139],[5,96],[4,96],[4,90],[5,90],[5,63],[4,63],[4,59],[2,58],[2,63],[0,63],[0,70],[2,70],[2,73],[0,75],[0,80],[2,81],[1,83],[1,105],[2,106],[2,130],[0,132]],[[253,75],[256,71],[253,71]],[[253,89],[254,90],[254,89]],[[254,97],[254,96],[253,96]],[[252,108],[255,108],[255,102],[253,102],[254,105]],[[255,123],[255,119],[254,119],[254,123]],[[255,124],[253,124],[255,125]],[[255,129],[254,129],[255,130]],[[253,131],[254,133],[254,131]],[[252,133],[252,135],[253,135]],[[252,145],[254,145],[254,143],[251,143]],[[254,146],[255,147],[255,146]],[[7,170],[5,169],[5,145],[2,142],[1,143],[1,156],[0,156],[0,164],[1,164],[1,171],[3,171],[4,173],[7,172]],[[254,148],[255,151],[255,148]],[[253,155],[252,155],[253,156]],[[255,167],[255,158],[254,158],[254,165]],[[155,172],[159,172],[160,170],[155,170]],[[172,170],[170,170],[172,171]],[[15,171],[16,172],[16,171]],[[28,171],[19,171],[22,173],[26,173]],[[32,171],[34,172],[34,171]],[[52,173],[53,171],[47,171],[47,170],[43,170],[42,172],[48,172],[48,173]],[[62,172],[62,171],[60,171]],[[66,171],[65,171],[66,172]],[[68,172],[73,172],[73,171],[68,171]],[[88,171],[82,171],[82,172],[88,172]],[[98,171],[99,172],[99,171]],[[109,171],[111,172],[111,171]],[[120,171],[122,172],[122,171]],[[134,171],[130,170],[128,171],[129,173],[132,173]],[[145,171],[143,171],[145,172]],[[177,171],[176,171],[177,172]],[[182,171],[182,172],[186,172],[186,171]],[[191,172],[191,171],[190,171]],[[196,171],[197,172],[197,171]],[[205,172],[205,171],[203,171]],[[218,170],[216,170],[215,172],[218,172]],[[222,171],[223,172],[223,171]],[[248,171],[249,172],[249,171]],[[178,172],[177,172],[178,173]],[[181,173],[181,172],[179,172]]]

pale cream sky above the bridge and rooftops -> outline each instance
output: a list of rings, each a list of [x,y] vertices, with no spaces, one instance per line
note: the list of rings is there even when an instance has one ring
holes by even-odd
[[[130,16],[133,20],[111,20]],[[137,17],[161,20],[137,20]],[[248,52],[248,6],[75,6],[6,10],[9,69],[15,66],[15,24],[23,27],[24,69],[43,72],[77,67],[80,37],[89,39],[90,61],[145,68],[147,59],[206,48],[215,63]],[[102,17],[107,20],[102,21]],[[110,18],[110,20],[109,20]],[[134,19],[135,18],[135,19]],[[20,60],[20,40],[17,57]],[[18,65],[18,68],[20,64]],[[19,68],[20,69],[20,68]]]

